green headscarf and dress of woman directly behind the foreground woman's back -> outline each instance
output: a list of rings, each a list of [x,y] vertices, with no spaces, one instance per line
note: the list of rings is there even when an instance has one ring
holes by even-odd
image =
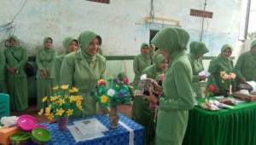
[[[197,55],[205,55],[209,50],[207,49],[206,44],[198,41],[191,42],[189,44],[190,53],[189,53],[189,61],[192,67],[193,72],[193,88],[195,92],[195,96],[202,96],[201,95],[201,80],[198,75],[201,71],[204,70],[204,66],[202,63],[201,58],[196,58]]]

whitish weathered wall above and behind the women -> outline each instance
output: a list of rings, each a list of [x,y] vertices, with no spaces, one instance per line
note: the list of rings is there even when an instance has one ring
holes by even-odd
[[[20,9],[23,0],[1,0],[0,25],[9,22]],[[154,0],[156,17],[180,20],[191,40],[199,40],[200,17],[189,15],[190,9],[203,9],[204,0]],[[207,10],[213,12],[206,19],[203,40],[211,49],[208,55],[218,55],[222,44],[234,47],[240,26],[241,0],[207,0]],[[15,35],[26,43],[29,54],[45,36],[54,38],[55,48],[61,51],[62,40],[77,38],[80,32],[92,30],[102,36],[106,55],[137,55],[139,46],[149,40],[149,29],[160,29],[162,24],[148,25],[150,0],[110,0],[110,4],[86,0],[28,0],[15,19]],[[0,40],[7,38],[0,32]]]

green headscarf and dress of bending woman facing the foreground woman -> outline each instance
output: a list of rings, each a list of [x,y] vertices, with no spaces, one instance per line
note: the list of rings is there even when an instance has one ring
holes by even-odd
[[[154,65],[146,67],[143,70],[143,74],[147,74],[148,78],[160,80],[160,74],[164,71],[159,68],[159,65],[165,60],[163,55],[158,55],[154,60]],[[155,135],[155,122],[154,122],[154,110],[150,109],[149,102],[145,101],[143,97],[136,96],[132,107],[134,113],[132,118],[135,121],[145,127],[145,144],[152,144]]]

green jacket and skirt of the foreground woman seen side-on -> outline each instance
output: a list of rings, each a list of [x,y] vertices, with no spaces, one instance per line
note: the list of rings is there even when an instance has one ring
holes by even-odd
[[[184,52],[173,58],[163,89],[165,96],[160,98],[156,134],[163,140],[181,144],[189,119],[188,110],[194,107],[192,69]]]

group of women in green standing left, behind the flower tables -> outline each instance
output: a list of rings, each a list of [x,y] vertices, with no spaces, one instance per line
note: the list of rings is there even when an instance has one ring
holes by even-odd
[[[102,38],[95,32],[82,32],[78,40],[66,38],[63,42],[65,54],[56,55],[53,39],[44,38],[43,47],[36,55],[38,109],[44,107],[44,96],[53,95],[55,85],[69,84],[79,88],[80,95],[84,97],[84,114],[96,113],[96,102],[89,96],[106,69],[105,57],[98,54],[101,43]],[[24,69],[28,61],[27,51],[15,36],[9,37],[8,44],[0,51],[0,91],[9,93],[13,111],[23,111],[28,107]]]

